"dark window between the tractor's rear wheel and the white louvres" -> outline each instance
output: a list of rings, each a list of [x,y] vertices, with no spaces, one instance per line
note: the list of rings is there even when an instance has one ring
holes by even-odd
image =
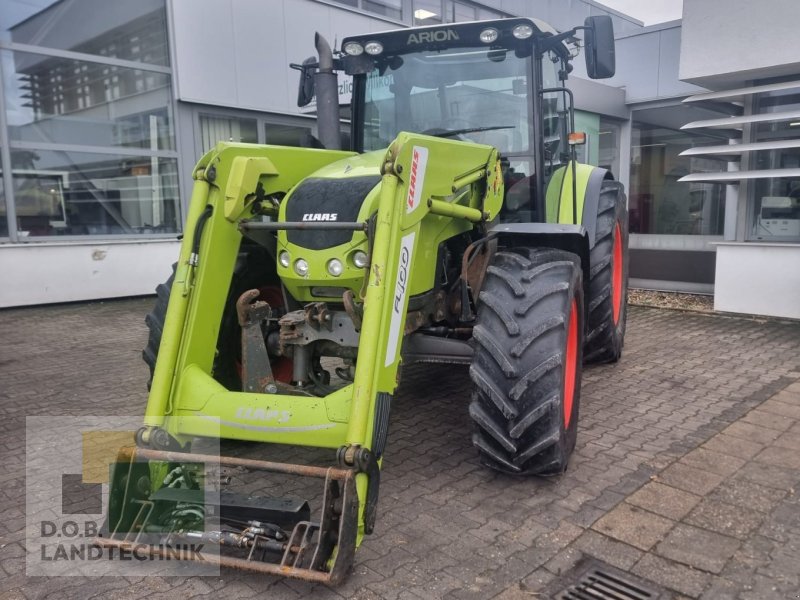
[[[725,164],[679,156],[693,146],[719,143],[701,135],[634,122],[631,140],[632,233],[722,235],[725,186],[679,181],[689,173],[718,172]]]

